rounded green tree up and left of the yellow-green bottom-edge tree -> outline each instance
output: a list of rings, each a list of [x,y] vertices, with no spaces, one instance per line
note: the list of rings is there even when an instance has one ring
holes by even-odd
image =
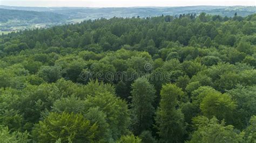
[[[27,130],[31,130],[31,126],[39,121],[42,112],[49,111],[51,106],[62,96],[60,90],[54,84],[28,85],[16,104],[16,110],[19,110],[26,120]]]

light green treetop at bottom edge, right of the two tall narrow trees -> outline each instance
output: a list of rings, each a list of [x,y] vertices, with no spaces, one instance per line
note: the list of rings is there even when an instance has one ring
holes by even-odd
[[[187,142],[244,142],[244,132],[235,131],[232,125],[225,126],[224,120],[219,123],[215,117],[209,120],[199,116],[193,119],[193,124],[196,131]]]

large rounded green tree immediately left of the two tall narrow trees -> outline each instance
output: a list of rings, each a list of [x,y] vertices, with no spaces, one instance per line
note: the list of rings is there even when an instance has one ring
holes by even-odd
[[[128,133],[130,117],[127,104],[122,99],[107,92],[99,93],[95,96],[87,96],[85,107],[85,111],[98,107],[106,114],[106,120],[114,140]]]

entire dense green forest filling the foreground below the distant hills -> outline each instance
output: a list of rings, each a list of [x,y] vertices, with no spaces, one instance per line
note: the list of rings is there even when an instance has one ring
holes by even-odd
[[[2,35],[0,142],[255,142],[255,52],[256,14]]]

